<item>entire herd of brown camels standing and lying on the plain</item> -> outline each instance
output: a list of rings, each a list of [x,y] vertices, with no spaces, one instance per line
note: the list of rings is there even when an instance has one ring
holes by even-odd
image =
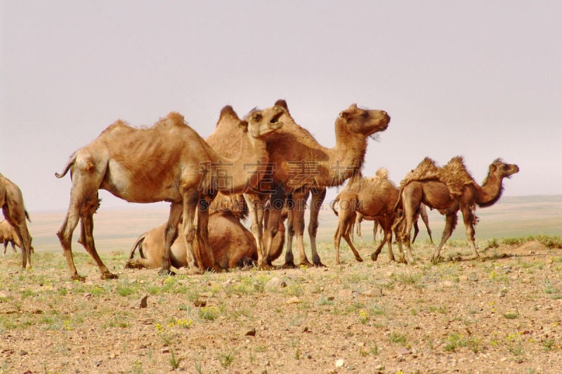
[[[93,239],[99,189],[129,202],[170,203],[167,222],[139,236],[126,262],[129,268],[159,268],[159,274],[174,274],[171,267],[187,267],[189,274],[246,265],[271,269],[283,246],[283,267],[295,267],[295,236],[298,265],[323,266],[315,240],[318,213],[327,187],[343,185],[346,180],[346,187],[332,201],[339,220],[334,234],[336,263],[342,237],[355,259],[362,261],[351,239],[353,226],[359,225],[360,219],[374,220],[384,231],[372,260],[377,260],[385,243],[390,259],[395,260],[394,235],[398,261],[414,262],[410,232],[415,227],[415,239],[420,215],[431,238],[426,206],[445,215],[433,263],[440,260],[440,250],[455,229],[458,211],[478,257],[474,243],[476,206],[495,203],[502,194],[502,180],[517,173],[518,166],[496,159],[482,185],[474,182],[459,156],[443,167],[426,157],[398,187],[388,180],[385,168],[372,178],[363,178],[367,138],[385,131],[389,122],[390,116],[383,110],[350,105],[334,123],[336,145],[327,148],[294,121],[285,100],[266,109],[252,109],[243,119],[226,106],[206,139],[176,112],[150,127],[135,128],[116,121],[74,152],[62,173],[55,173],[63,178],[70,171],[72,179],[67,215],[57,232],[71,278],[84,281],[72,256],[72,233],[78,224],[79,243],[96,261],[101,279],[117,277],[103,264]],[[309,197],[312,262],[303,243]],[[29,268],[32,238],[25,222],[29,215],[20,189],[1,174],[0,204],[12,228],[11,234],[9,229],[0,230],[4,253],[8,242],[15,243],[22,248],[22,266]],[[251,231],[240,222],[247,215]],[[134,256],[137,249],[141,258]]]

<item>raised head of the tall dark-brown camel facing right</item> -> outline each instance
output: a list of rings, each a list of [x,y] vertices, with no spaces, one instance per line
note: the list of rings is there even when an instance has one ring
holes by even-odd
[[[372,137],[375,133],[386,130],[391,117],[384,110],[361,109],[357,104],[352,104],[339,114],[338,120],[344,121],[353,133]]]

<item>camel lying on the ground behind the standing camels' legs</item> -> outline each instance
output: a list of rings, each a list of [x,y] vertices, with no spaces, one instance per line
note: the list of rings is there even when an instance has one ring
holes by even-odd
[[[125,267],[131,269],[157,269],[162,266],[164,255],[164,230],[166,224],[151,229],[138,237],[131,248],[129,260]],[[285,225],[280,228],[285,232]],[[283,250],[284,236],[279,236],[275,242],[275,253],[277,257]],[[194,246],[199,246],[197,237],[193,241]],[[209,245],[215,260],[221,267],[245,267],[254,264],[258,259],[258,252],[254,235],[240,223],[235,214],[230,211],[221,210],[209,215]],[[141,258],[133,258],[138,248]],[[186,248],[182,240],[176,239],[171,246],[171,266],[180,268],[187,267]],[[273,256],[275,256],[273,253]],[[270,258],[270,261],[276,257]],[[204,265],[209,267],[209,258],[203,255]]]

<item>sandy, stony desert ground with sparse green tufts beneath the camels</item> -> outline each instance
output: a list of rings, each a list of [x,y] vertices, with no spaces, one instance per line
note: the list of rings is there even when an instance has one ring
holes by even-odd
[[[124,269],[136,237],[166,207],[104,209],[96,246],[119,279],[100,280],[74,243],[84,283],[70,281],[55,236],[65,212],[33,213],[31,270],[0,260],[2,373],[556,373],[562,367],[562,196],[504,196],[477,211],[481,259],[462,224],[431,265],[426,234],[414,265],[364,262],[320,215],[327,267],[159,276]],[[433,239],[443,218],[430,215]],[[422,229],[423,233],[423,229]],[[396,246],[395,252],[397,250]],[[307,248],[308,249],[308,248]],[[275,265],[281,265],[277,260]]]

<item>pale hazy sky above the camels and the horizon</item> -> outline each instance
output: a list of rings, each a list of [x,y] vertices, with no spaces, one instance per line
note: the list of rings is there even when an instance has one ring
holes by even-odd
[[[224,105],[285,98],[327,147],[341,109],[385,109],[365,175],[400,182],[461,154],[481,182],[502,157],[521,168],[504,194],[562,194],[561,14],[557,0],[0,0],[0,173],[30,212],[66,210],[55,171],[116,119],[177,111],[206,137]]]

